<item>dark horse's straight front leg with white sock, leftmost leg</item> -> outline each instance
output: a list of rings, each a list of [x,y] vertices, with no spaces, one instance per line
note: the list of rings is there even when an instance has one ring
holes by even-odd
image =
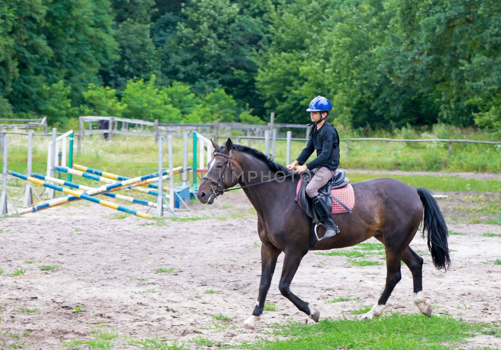
[[[268,289],[270,289],[273,272],[275,271],[277,258],[280,253],[281,251],[272,245],[263,243],[261,246],[261,283],[259,285],[258,302],[252,316],[243,322],[245,328],[254,329],[255,322],[260,320],[263,308],[265,307],[266,294],[268,293]]]

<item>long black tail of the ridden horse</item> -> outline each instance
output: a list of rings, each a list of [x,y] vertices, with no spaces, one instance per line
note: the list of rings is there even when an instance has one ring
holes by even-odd
[[[423,238],[424,231],[428,232],[428,249],[431,253],[433,265],[439,270],[447,270],[450,267],[449,248],[447,237],[449,230],[445,224],[440,208],[426,189],[416,189],[424,207]]]

